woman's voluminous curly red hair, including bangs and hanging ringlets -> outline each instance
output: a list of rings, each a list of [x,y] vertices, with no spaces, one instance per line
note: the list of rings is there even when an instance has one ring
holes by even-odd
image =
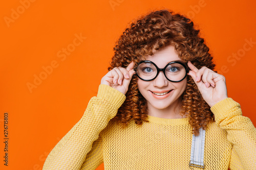
[[[172,11],[159,10],[140,16],[125,29],[116,42],[115,54],[108,69],[127,67],[132,61],[136,67],[147,55],[153,55],[153,52],[167,45],[174,45],[179,58],[185,63],[191,61],[197,68],[206,66],[213,70],[215,67],[208,53],[209,48],[204,39],[199,37],[199,30],[194,28],[193,21]],[[121,123],[123,128],[133,119],[138,126],[148,122],[146,100],[138,90],[137,80],[134,75],[125,94],[126,99],[112,119]],[[180,114],[188,117],[193,134],[198,135],[201,127],[206,129],[214,121],[214,114],[190,76],[181,95],[181,104]]]

